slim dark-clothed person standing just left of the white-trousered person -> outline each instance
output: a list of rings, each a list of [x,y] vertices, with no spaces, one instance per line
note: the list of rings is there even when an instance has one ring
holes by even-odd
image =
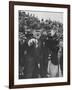
[[[46,47],[46,32],[42,33],[41,36],[41,53],[42,53],[42,60],[40,61],[40,76],[47,77],[47,68],[48,68],[48,48]]]

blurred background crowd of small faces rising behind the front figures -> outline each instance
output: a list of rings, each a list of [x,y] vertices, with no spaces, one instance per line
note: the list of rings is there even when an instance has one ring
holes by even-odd
[[[51,19],[42,18],[41,20],[34,14],[29,14],[24,11],[19,11],[19,40],[24,40],[26,35],[34,35],[34,31],[41,31],[49,34],[54,29],[58,38],[63,38],[63,24]]]

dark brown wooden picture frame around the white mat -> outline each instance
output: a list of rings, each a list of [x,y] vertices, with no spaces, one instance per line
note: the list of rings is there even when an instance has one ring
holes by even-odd
[[[39,6],[39,7],[53,7],[53,8],[67,8],[67,44],[68,44],[68,62],[67,62],[67,82],[58,83],[41,83],[41,84],[25,84],[14,85],[14,6]],[[65,4],[51,4],[51,3],[34,3],[34,2],[9,2],[9,88],[30,88],[30,87],[44,87],[44,86],[61,86],[70,85],[70,5]]]

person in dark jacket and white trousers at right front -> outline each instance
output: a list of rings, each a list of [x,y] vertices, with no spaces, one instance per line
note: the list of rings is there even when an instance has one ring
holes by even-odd
[[[51,50],[51,63],[49,66],[49,72],[51,77],[56,77],[58,73],[58,40],[56,36],[56,31],[51,30],[46,46]]]

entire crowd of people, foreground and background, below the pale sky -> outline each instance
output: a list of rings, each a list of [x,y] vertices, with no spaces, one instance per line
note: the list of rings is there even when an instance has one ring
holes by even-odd
[[[63,24],[19,11],[19,78],[59,75],[63,76]]]

